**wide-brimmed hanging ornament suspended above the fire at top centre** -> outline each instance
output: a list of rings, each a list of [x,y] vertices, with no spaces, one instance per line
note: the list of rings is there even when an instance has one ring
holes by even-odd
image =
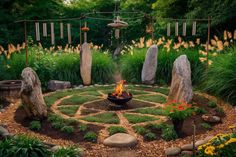
[[[116,17],[116,20],[114,20],[113,23],[109,23],[107,26],[108,26],[108,27],[115,28],[115,38],[116,38],[116,39],[119,39],[119,38],[120,38],[120,29],[121,29],[121,28],[128,27],[128,23],[127,23],[127,22],[124,22],[124,21],[121,21],[121,20],[120,20],[120,17],[117,16],[117,17]]]

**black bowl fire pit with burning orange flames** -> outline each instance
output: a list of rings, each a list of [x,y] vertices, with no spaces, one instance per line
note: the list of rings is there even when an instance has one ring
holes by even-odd
[[[125,91],[123,84],[125,80],[121,80],[117,82],[115,87],[115,91],[113,93],[109,93],[107,99],[114,103],[117,106],[124,106],[128,101],[132,99],[132,94]]]

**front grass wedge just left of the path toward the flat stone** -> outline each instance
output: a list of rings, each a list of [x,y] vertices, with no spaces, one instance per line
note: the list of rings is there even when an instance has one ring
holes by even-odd
[[[94,116],[87,116],[81,118],[88,122],[107,123],[107,124],[119,124],[119,118],[113,112],[101,113]]]

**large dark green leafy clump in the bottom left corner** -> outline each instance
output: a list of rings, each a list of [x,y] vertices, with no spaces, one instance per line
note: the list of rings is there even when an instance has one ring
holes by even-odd
[[[50,153],[46,146],[35,138],[24,135],[0,141],[0,156],[40,156],[49,157]]]

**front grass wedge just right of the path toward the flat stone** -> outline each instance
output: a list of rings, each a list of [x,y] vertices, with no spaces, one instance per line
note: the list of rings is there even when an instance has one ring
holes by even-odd
[[[148,121],[154,121],[158,120],[159,118],[151,117],[151,116],[141,116],[141,115],[134,115],[134,114],[124,114],[124,117],[133,124],[136,123],[142,123],[142,122],[148,122]]]

